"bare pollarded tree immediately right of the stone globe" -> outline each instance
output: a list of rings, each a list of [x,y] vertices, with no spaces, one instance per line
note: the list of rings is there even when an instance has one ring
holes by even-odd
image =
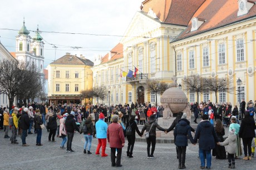
[[[197,101],[199,103],[199,94],[206,90],[205,78],[198,74],[187,76],[183,79],[183,90],[186,92],[196,92]]]

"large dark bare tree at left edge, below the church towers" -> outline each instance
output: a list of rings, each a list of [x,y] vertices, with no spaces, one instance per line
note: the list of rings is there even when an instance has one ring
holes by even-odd
[[[35,66],[29,66],[18,61],[0,61],[0,89],[9,99],[12,107],[14,97],[33,99],[42,89],[41,74]]]

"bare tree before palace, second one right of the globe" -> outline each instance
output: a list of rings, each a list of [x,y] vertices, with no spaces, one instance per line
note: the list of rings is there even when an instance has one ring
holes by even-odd
[[[230,87],[230,82],[228,81],[227,78],[205,78],[205,83],[206,83],[206,87],[207,89],[209,89],[209,91],[214,92],[215,93],[215,99],[217,102],[217,92],[218,91],[223,91],[223,92],[228,92],[228,93],[232,93],[234,90],[234,87]]]

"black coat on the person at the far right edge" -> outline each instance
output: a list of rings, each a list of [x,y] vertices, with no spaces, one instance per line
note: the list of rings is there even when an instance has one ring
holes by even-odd
[[[255,137],[255,121],[249,114],[244,115],[244,119],[242,120],[239,137],[240,138],[248,138],[248,137]]]

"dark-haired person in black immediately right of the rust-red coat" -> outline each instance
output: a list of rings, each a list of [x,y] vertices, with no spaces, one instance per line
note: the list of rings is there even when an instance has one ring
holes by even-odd
[[[132,150],[134,150],[134,143],[135,143],[135,131],[138,133],[139,136],[142,136],[139,128],[137,127],[137,123],[135,122],[135,116],[132,115],[130,118],[129,123],[126,124],[126,130],[127,127],[131,127],[131,135],[126,135],[127,140],[128,140],[128,147],[127,147],[127,156],[132,158]]]

